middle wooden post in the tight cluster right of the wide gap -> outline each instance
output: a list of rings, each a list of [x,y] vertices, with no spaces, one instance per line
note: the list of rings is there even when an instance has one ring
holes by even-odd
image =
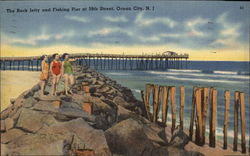
[[[206,142],[206,119],[208,111],[208,88],[202,89],[202,145]]]

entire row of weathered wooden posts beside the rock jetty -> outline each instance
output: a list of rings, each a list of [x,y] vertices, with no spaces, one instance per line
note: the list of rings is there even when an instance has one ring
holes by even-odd
[[[184,105],[185,105],[185,87],[180,86],[180,128],[184,128]],[[158,122],[160,107],[162,107],[162,122],[163,126],[166,126],[169,101],[171,101],[171,114],[172,114],[172,127],[171,133],[173,134],[176,128],[176,87],[175,86],[159,86],[154,84],[146,84],[145,92],[141,92],[145,109],[147,112],[147,118],[152,122]],[[150,111],[150,96],[153,97],[153,110]],[[228,129],[228,113],[230,104],[230,92],[224,92],[224,143],[223,148],[227,149],[227,129]],[[208,107],[210,106],[210,107]],[[195,143],[203,146],[205,144],[205,131],[206,131],[206,119],[209,113],[209,146],[216,146],[216,115],[217,115],[217,90],[215,88],[205,87],[193,87],[192,96],[192,109],[189,126],[189,137],[193,138],[193,127],[195,124]],[[239,109],[240,108],[240,109]],[[236,91],[234,93],[234,141],[233,150],[237,151],[238,145],[238,116],[240,110],[241,121],[241,148],[242,153],[246,153],[246,123],[245,123],[245,103],[244,93]],[[249,149],[250,150],[250,149]]]

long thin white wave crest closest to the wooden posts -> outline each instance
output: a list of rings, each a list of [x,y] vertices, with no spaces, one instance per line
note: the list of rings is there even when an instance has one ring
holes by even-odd
[[[164,76],[164,78],[173,79],[173,80],[182,80],[182,81],[200,81],[200,82],[218,82],[218,83],[243,83],[241,81],[218,80],[218,79],[195,79],[195,78],[182,78],[182,77],[175,77],[175,76]]]

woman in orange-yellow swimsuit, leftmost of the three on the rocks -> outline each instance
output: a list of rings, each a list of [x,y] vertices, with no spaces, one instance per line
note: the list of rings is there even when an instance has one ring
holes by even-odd
[[[48,64],[48,56],[43,55],[41,57],[42,63],[41,63],[41,69],[42,73],[40,75],[40,87],[41,87],[41,95],[44,95],[44,89],[45,85],[49,78],[49,64]]]

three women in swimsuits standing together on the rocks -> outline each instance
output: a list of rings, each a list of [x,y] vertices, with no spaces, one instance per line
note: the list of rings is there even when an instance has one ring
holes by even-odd
[[[48,56],[42,56],[41,69],[42,73],[40,75],[40,86],[41,86],[41,95],[44,95],[45,86],[49,79],[49,73],[52,76],[52,86],[51,86],[51,95],[57,96],[57,87],[60,78],[64,77],[64,87],[65,94],[72,94],[71,87],[74,84],[74,75],[73,67],[71,62],[72,59],[69,59],[69,54],[64,53],[62,55],[63,61],[60,61],[58,53],[52,55],[53,61],[49,65]]]

